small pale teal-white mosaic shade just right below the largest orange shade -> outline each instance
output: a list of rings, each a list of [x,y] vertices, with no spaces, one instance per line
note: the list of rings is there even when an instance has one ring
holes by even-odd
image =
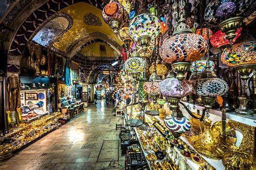
[[[192,65],[190,66],[190,71],[193,73],[197,70],[198,73],[203,73],[206,67],[206,62],[207,61],[204,59],[192,62]],[[208,65],[211,67],[211,70],[215,68],[215,64],[211,60],[208,60]]]

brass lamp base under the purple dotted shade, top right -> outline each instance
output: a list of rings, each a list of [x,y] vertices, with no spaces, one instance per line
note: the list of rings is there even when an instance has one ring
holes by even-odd
[[[219,24],[220,30],[226,34],[226,38],[230,40],[230,42],[235,38],[235,32],[242,27],[243,19],[243,17],[232,17]]]

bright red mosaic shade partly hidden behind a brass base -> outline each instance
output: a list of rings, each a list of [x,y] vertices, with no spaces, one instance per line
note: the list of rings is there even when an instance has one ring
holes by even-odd
[[[236,36],[233,39],[232,43],[235,42],[235,40],[240,36],[242,28],[238,29],[237,32],[235,32]],[[219,48],[224,45],[230,44],[230,41],[226,38],[226,34],[223,33],[221,30],[215,32],[213,36],[211,37],[211,44],[215,48]]]

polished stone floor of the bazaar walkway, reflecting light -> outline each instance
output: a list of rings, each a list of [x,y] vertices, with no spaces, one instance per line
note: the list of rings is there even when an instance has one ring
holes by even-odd
[[[120,131],[116,131],[122,117],[113,116],[112,109],[104,100],[89,105],[69,123],[0,162],[0,168],[124,169],[125,157],[117,143]]]

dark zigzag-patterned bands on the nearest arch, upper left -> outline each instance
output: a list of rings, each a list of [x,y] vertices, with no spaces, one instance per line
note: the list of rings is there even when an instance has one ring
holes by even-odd
[[[17,5],[8,13],[8,15],[3,20],[3,26],[9,27],[10,24],[14,21],[14,19],[19,15],[22,9],[25,8],[31,1],[19,1]],[[25,45],[28,40],[31,39],[33,32],[36,31],[37,27],[40,26],[46,19],[57,13],[58,11],[65,9],[66,7],[77,4],[79,2],[85,2],[84,4],[88,4],[91,6],[96,6],[95,8],[98,10],[102,10],[105,6],[105,3],[97,0],[67,0],[67,1],[54,1],[50,0],[44,3],[40,8],[35,10],[29,15],[26,20],[24,20],[23,24],[17,30],[16,36],[12,41],[9,54],[12,55],[21,55]],[[65,12],[68,13],[68,12]]]

